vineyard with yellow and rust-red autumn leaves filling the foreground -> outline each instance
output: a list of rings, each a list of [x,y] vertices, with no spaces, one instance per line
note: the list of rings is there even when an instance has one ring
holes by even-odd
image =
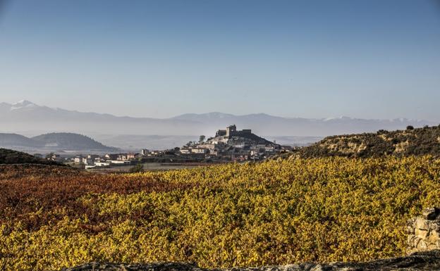
[[[2,165],[0,270],[95,260],[233,267],[401,256],[406,220],[439,203],[440,160],[429,156],[124,175]]]

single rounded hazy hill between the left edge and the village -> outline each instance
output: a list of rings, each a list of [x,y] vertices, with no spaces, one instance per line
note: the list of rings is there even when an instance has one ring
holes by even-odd
[[[45,146],[51,146],[66,150],[91,150],[91,151],[115,151],[115,148],[105,146],[90,137],[82,134],[73,133],[50,133],[32,137],[36,141],[44,143]]]

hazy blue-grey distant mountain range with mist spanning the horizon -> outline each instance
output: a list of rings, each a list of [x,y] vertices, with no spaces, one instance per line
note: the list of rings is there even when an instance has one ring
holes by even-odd
[[[61,108],[38,106],[30,101],[0,103],[0,132],[35,136],[46,132],[75,132],[87,134],[104,144],[118,141],[124,146],[155,148],[170,143],[181,146],[188,137],[197,140],[200,134],[214,136],[216,130],[235,124],[239,130],[252,132],[269,140],[296,144],[300,137],[302,144],[317,141],[333,134],[375,132],[377,130],[398,130],[406,126],[422,127],[438,125],[427,120],[367,120],[359,118],[281,118],[264,113],[231,115],[227,113],[184,114],[173,118],[130,118],[110,114],[84,113]],[[140,142],[140,136],[159,135],[166,141],[155,141],[153,145]],[[295,137],[293,137],[295,136]],[[130,141],[130,138],[133,141]],[[105,141],[109,139],[109,141]],[[306,143],[304,143],[306,142]],[[281,142],[280,142],[281,143]],[[171,146],[168,146],[171,147]],[[163,148],[162,148],[163,149]]]

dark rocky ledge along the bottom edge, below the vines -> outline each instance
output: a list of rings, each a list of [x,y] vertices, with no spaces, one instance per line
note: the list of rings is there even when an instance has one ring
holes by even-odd
[[[63,269],[62,271],[422,271],[440,270],[440,251],[413,253],[410,256],[374,260],[367,263],[302,263],[298,265],[277,265],[266,267],[245,267],[229,269],[204,269],[185,263],[149,263],[126,265],[110,263],[88,263]]]

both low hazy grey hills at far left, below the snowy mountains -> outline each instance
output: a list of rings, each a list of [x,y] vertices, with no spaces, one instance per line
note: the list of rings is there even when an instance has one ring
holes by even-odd
[[[0,133],[0,147],[18,150],[47,151],[118,151],[82,134],[50,133],[37,137]]]

